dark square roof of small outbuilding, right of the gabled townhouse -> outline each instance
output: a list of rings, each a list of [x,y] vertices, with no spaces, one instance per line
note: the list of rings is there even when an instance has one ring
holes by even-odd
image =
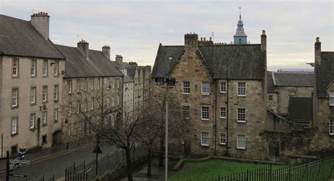
[[[312,98],[290,97],[287,118],[294,123],[309,123],[312,120]]]

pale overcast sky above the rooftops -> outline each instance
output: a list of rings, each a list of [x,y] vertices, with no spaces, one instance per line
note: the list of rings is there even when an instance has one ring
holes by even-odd
[[[305,63],[314,61],[316,37],[323,51],[333,51],[333,1],[0,0],[0,13],[30,20],[32,11],[47,12],[54,43],[76,46],[79,37],[90,49],[110,45],[112,57],[153,65],[159,43],[182,45],[187,32],[207,39],[214,32],[214,42],[229,43],[238,6],[247,40],[260,43],[266,30],[269,70],[310,68]]]

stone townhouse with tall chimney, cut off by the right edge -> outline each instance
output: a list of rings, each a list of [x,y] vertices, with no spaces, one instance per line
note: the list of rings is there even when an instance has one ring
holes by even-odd
[[[314,127],[318,128],[311,147],[334,149],[334,51],[321,51],[321,42],[314,44]]]

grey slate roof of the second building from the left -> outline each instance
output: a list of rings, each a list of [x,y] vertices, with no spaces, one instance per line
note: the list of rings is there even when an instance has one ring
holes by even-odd
[[[89,60],[87,60],[77,47],[58,44],[56,47],[66,56],[66,78],[123,76],[123,73],[116,68],[116,63],[106,58],[102,51],[89,49]]]

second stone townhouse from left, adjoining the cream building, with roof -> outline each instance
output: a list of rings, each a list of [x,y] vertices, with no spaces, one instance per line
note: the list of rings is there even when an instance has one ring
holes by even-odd
[[[110,60],[110,46],[101,51],[89,49],[85,40],[77,47],[56,45],[66,57],[63,77],[63,130],[62,140],[70,142],[92,134],[87,121],[82,116],[95,116],[107,113],[104,121],[113,125],[118,114],[123,113],[123,73]]]

